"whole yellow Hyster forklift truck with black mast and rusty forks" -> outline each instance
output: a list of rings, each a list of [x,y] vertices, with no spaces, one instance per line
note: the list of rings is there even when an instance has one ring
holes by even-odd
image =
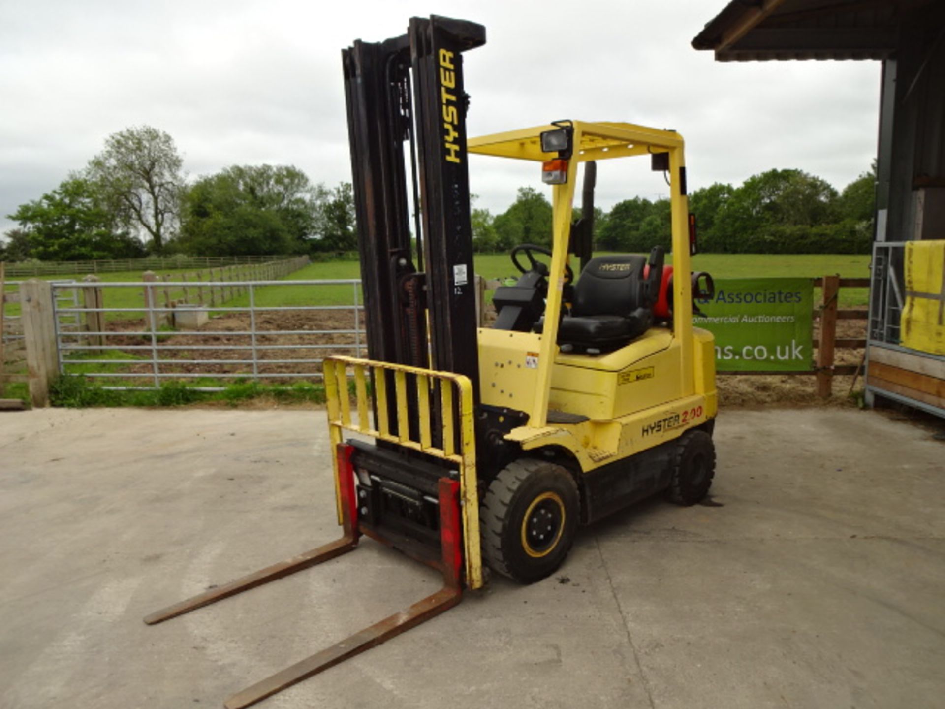
[[[438,568],[443,588],[234,695],[231,709],[451,608],[484,584],[484,566],[543,579],[580,525],[657,493],[692,505],[712,484],[713,336],[692,325],[694,292],[712,286],[690,270],[681,136],[567,120],[467,140],[463,53],[483,43],[484,27],[434,16],[342,55],[369,358],[324,362],[341,539],[145,620],[328,561],[362,535]],[[521,276],[495,291],[488,328],[476,315],[469,153],[532,161],[553,185],[552,247],[511,251]],[[672,267],[659,247],[592,257],[596,163],[629,157],[667,176]]]

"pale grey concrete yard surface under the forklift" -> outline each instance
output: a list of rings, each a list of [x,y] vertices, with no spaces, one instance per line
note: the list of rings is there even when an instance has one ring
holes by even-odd
[[[335,538],[323,419],[0,414],[0,706],[218,706],[431,593],[435,572],[365,541],[141,622]],[[942,706],[943,443],[832,409],[723,412],[716,442],[709,504],[585,529],[558,578],[493,580],[262,706]]]

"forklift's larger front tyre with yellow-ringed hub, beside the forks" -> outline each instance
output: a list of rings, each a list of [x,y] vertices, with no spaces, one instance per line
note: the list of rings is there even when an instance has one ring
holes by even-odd
[[[550,576],[575,541],[578,514],[577,485],[567,469],[536,458],[509,463],[480,510],[485,562],[520,583]]]

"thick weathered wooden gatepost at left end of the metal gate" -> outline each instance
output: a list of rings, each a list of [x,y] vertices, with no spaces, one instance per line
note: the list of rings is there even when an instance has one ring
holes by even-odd
[[[48,406],[49,384],[59,374],[53,286],[48,281],[27,281],[21,286],[21,293],[29,396],[33,406]]]

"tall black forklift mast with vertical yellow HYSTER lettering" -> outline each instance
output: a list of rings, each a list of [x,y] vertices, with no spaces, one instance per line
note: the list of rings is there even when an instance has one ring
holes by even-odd
[[[463,374],[476,393],[462,52],[485,42],[484,26],[433,16],[342,52],[369,357]]]

